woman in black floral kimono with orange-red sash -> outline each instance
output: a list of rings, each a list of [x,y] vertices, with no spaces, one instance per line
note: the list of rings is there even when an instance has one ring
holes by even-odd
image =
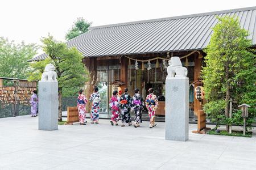
[[[125,126],[125,123],[129,126],[131,125],[131,97],[128,94],[128,88],[125,88],[125,92],[121,95],[120,99],[121,104],[121,116],[122,116],[122,127]]]

